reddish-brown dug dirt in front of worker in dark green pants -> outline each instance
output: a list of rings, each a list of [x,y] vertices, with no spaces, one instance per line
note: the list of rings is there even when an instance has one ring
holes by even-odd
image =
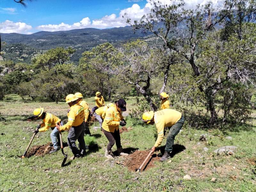
[[[126,157],[124,160],[124,166],[128,168],[128,170],[135,172],[136,169],[140,167],[140,165],[143,163],[145,158],[148,156],[149,151],[139,151],[136,150],[134,153],[130,154]],[[154,162],[159,161],[160,157],[156,156],[156,154],[153,154],[152,156],[148,157],[148,160],[145,162],[143,167],[141,168],[141,171],[148,170],[151,167],[154,167]]]

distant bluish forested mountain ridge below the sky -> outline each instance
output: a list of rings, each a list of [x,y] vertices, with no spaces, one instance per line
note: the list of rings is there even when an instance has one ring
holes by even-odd
[[[76,49],[71,60],[77,63],[84,51],[99,44],[105,42],[116,44],[132,39],[147,38],[148,35],[150,34],[144,34],[140,31],[134,33],[131,26],[126,26],[110,29],[84,28],[56,32],[40,31],[31,35],[1,33],[1,39],[7,44],[25,44],[37,50],[71,46]],[[7,59],[7,57],[3,57]]]

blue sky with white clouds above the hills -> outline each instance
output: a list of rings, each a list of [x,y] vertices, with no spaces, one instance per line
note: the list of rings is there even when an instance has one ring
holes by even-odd
[[[0,1],[0,32],[31,34],[76,28],[113,28],[139,20],[150,11],[150,0],[34,0],[27,7],[13,0]],[[170,0],[160,0],[169,3]],[[188,1],[188,0],[187,0]],[[192,0],[202,3],[206,0]]]

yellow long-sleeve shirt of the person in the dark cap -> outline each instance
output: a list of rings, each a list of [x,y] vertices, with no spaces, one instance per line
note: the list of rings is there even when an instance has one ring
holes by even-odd
[[[110,107],[106,111],[106,117],[103,121],[102,129],[113,133],[115,130],[119,129],[119,122],[123,119],[124,117],[122,116],[122,112],[117,110],[116,105],[114,107]]]

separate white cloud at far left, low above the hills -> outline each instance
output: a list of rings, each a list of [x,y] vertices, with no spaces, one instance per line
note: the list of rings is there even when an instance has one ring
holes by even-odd
[[[28,30],[32,29],[30,25],[22,22],[13,22],[10,20],[6,20],[4,22],[0,22],[0,33],[23,33],[29,34]]]

